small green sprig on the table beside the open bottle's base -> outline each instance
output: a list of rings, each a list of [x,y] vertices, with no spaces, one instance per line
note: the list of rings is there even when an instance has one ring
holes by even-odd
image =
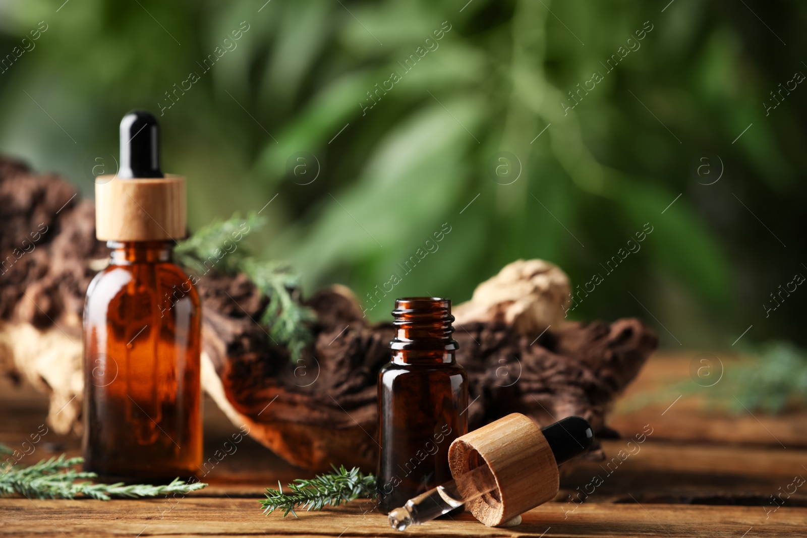
[[[371,498],[375,495],[375,477],[364,474],[358,467],[347,470],[342,465],[337,469],[332,465],[333,473],[317,475],[311,480],[298,478],[288,485],[290,493],[283,493],[283,486],[278,482],[278,489],[266,488],[266,498],[261,501],[265,515],[275,510],[282,510],[283,517],[291,512],[295,517],[295,507],[303,507],[306,511],[322,510],[329,504],[338,507],[341,503],[349,503],[357,498]]]

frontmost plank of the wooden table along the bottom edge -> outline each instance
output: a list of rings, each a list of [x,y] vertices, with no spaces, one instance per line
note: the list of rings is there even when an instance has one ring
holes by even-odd
[[[769,519],[752,507],[667,504],[584,504],[564,517],[558,503],[522,515],[516,528],[489,528],[469,513],[438,519],[402,534],[387,516],[356,501],[299,519],[261,515],[256,499],[186,497],[145,501],[0,502],[0,535],[36,536],[805,536],[807,508],[782,507]]]

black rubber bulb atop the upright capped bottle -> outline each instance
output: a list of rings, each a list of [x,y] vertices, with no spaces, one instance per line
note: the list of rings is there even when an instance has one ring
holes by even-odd
[[[163,177],[160,170],[160,126],[148,111],[131,111],[120,120],[118,177]]]

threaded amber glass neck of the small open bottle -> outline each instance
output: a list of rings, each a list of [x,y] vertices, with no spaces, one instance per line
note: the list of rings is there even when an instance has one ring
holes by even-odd
[[[392,311],[395,338],[392,362],[399,365],[453,364],[457,342],[451,337],[454,316],[450,299],[405,297]]]

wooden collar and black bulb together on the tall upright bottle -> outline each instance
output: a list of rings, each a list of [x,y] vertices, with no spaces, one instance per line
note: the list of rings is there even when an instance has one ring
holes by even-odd
[[[186,236],[185,177],[160,169],[160,128],[146,111],[120,122],[120,169],[95,178],[95,236],[102,241]]]

